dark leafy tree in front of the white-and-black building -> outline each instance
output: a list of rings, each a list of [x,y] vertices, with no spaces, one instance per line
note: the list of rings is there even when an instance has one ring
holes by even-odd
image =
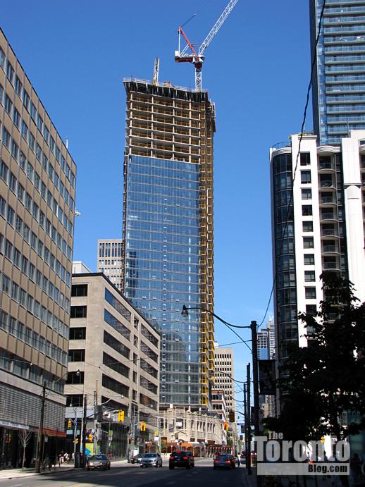
[[[298,315],[308,345],[289,350],[278,383],[283,408],[278,419],[266,421],[292,440],[324,434],[340,440],[365,429],[365,303],[337,273],[326,271],[321,279],[319,311]],[[345,426],[346,412],[359,413],[359,421]]]

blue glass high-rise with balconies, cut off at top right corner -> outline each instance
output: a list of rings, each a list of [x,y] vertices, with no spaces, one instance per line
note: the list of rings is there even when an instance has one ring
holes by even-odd
[[[318,144],[340,145],[349,130],[365,129],[365,2],[310,0],[314,132]]]

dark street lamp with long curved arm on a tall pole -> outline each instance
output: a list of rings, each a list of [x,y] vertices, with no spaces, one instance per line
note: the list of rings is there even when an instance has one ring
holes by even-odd
[[[187,308],[185,304],[182,306],[182,316],[188,316],[189,311],[191,309],[198,309],[199,311],[206,312],[211,314],[211,316],[214,316],[218,321],[221,321],[223,325],[228,326],[228,328],[235,333],[232,328],[249,328],[251,330],[251,337],[252,337],[252,373],[253,373],[253,383],[254,383],[254,434],[255,436],[259,436],[260,434],[260,425],[259,425],[259,362],[258,362],[258,356],[257,356],[257,323],[256,321],[251,321],[251,324],[249,326],[237,326],[233,325],[231,323],[228,323],[228,321],[225,321],[224,319],[221,318],[221,316],[218,316],[218,314],[215,314],[214,312],[211,312],[210,309],[206,309],[204,307],[189,307]],[[237,333],[235,333],[237,335]],[[240,335],[237,335],[242,342],[247,345],[245,340],[242,340]],[[248,346],[248,345],[247,345]],[[248,412],[249,413],[249,412]],[[257,469],[256,469],[257,471]],[[259,483],[259,476],[257,477],[257,483]]]

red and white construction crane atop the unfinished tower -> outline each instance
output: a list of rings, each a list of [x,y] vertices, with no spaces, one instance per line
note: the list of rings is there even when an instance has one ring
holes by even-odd
[[[187,35],[182,30],[182,27],[178,28],[178,38],[179,38],[179,47],[178,51],[175,51],[175,61],[177,63],[193,63],[195,68],[195,89],[202,90],[202,67],[204,63],[204,51],[209,46],[211,41],[213,40],[214,36],[218,32],[218,30],[222,27],[223,23],[225,22],[226,18],[229,14],[233,11],[235,4],[237,4],[238,0],[230,0],[228,5],[225,7],[221,16],[218,18],[214,26],[211,28],[211,31],[206,36],[202,44],[200,44],[199,49],[195,50],[194,44],[187,39]],[[195,16],[196,14],[194,14]],[[194,16],[192,16],[189,20],[191,20]],[[182,51],[180,50],[181,44],[181,36],[184,37],[186,41],[186,46]],[[190,51],[189,51],[190,49]]]

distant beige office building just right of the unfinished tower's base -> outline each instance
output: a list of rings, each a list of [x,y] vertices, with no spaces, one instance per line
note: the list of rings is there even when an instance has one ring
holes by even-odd
[[[214,344],[214,384],[215,388],[222,389],[228,412],[235,410],[235,366],[233,348],[219,347]]]

